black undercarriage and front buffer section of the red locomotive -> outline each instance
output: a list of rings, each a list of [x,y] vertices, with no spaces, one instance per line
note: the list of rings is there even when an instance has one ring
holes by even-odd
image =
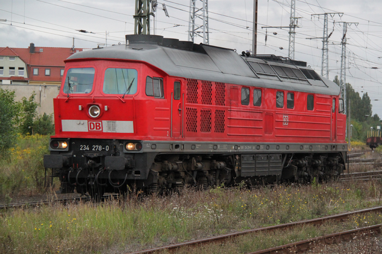
[[[345,153],[177,153],[126,152],[126,141],[70,140],[70,150],[45,155],[46,168],[54,168],[62,193],[124,193],[132,189],[163,193],[185,185],[207,188],[275,181],[325,180],[345,169]],[[94,148],[93,148],[94,147]]]

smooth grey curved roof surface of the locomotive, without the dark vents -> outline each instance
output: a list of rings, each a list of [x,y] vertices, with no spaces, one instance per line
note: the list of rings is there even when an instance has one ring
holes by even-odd
[[[195,48],[201,50],[195,51]],[[144,61],[174,77],[330,95],[340,93],[337,84],[323,77],[321,77],[322,81],[327,87],[280,81],[277,76],[275,76],[276,80],[262,78],[264,75],[258,78],[244,59],[233,50],[207,45],[194,45],[194,51],[190,51],[153,43],[133,43],[81,51],[68,59],[80,58]],[[290,65],[287,66],[290,67]]]

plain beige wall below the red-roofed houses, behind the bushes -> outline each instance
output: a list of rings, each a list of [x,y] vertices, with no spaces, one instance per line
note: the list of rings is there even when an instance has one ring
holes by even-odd
[[[60,91],[60,85],[43,85],[43,84],[24,84],[24,85],[0,85],[2,89],[14,90],[16,101],[21,101],[23,97],[29,99],[32,92],[36,92],[35,101],[41,106],[37,107],[39,114],[53,113],[53,98],[56,98]]]

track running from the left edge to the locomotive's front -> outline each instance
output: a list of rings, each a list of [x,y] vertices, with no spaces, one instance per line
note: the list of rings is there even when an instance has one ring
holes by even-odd
[[[101,198],[101,201],[106,199],[115,199],[118,198],[118,194],[105,195]],[[65,199],[55,199],[55,200],[42,200],[42,201],[34,201],[34,202],[22,202],[22,203],[13,203],[0,205],[0,210],[9,209],[9,208],[21,208],[21,207],[38,207],[41,205],[53,204],[53,203],[76,203],[76,202],[90,202],[90,197],[76,197],[76,198],[65,198]]]

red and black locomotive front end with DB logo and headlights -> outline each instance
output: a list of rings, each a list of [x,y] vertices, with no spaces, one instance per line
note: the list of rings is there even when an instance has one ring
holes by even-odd
[[[144,133],[144,123],[137,123],[135,115],[140,68],[112,60],[67,62],[54,99],[56,135],[50,139],[50,154],[44,156],[44,167],[54,169],[62,193],[76,188],[100,197],[126,188],[128,181],[148,178],[137,136]]]

